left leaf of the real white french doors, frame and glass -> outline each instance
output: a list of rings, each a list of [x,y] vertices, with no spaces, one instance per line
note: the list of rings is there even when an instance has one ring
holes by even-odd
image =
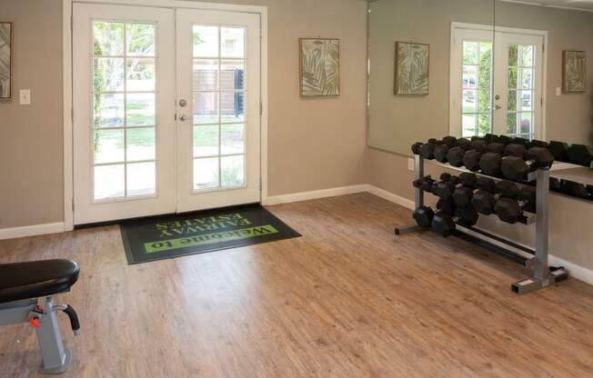
[[[73,10],[75,224],[173,213],[174,13]]]

